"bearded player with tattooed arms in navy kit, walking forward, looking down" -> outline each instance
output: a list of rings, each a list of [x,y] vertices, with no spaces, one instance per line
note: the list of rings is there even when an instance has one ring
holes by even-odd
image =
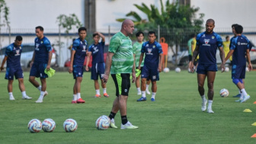
[[[223,51],[222,38],[219,34],[213,32],[215,27],[215,21],[213,19],[208,19],[206,21],[206,31],[197,34],[197,46],[194,50],[192,63],[190,65],[190,71],[194,72],[194,61],[199,54],[198,66],[197,66],[197,84],[198,91],[202,98],[202,107],[201,110],[206,110],[207,100],[204,94],[204,81],[207,77],[208,85],[208,113],[214,113],[212,109],[213,104],[213,83],[215,80],[216,72],[218,71],[216,64],[216,50],[219,48],[219,56],[222,60],[221,69],[222,72],[225,70],[225,53]]]

